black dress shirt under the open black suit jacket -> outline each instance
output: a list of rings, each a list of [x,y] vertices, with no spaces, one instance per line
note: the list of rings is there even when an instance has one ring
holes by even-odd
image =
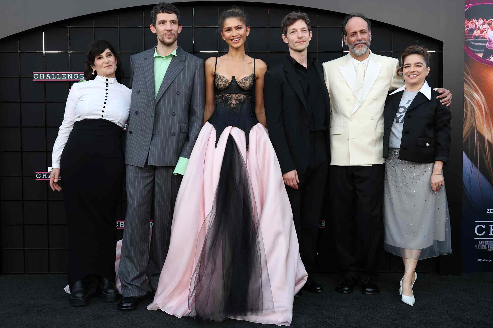
[[[298,63],[291,56],[289,62],[294,67],[298,80],[300,81],[301,88],[305,94],[305,102],[307,104],[308,111],[308,124],[310,132],[325,131],[325,120],[317,121],[314,119],[314,111],[325,110],[325,99],[323,98],[323,89],[320,85],[320,79],[318,78],[317,71],[315,70],[315,59],[308,55],[307,67]]]

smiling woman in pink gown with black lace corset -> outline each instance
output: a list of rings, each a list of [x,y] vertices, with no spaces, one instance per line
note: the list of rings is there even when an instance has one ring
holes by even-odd
[[[241,9],[226,10],[219,23],[229,52],[206,61],[210,117],[181,182],[168,256],[147,308],[289,326],[307,273],[281,168],[261,124],[267,67],[245,54],[250,31]]]

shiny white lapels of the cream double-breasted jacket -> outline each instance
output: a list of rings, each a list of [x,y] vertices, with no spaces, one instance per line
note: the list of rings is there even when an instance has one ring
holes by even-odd
[[[356,79],[356,71],[354,70],[354,66],[351,62],[351,55],[348,53],[343,57],[342,65],[339,66],[339,71],[342,76],[346,80],[346,83],[351,88],[352,92],[354,92],[354,80]],[[382,68],[382,63],[379,62],[378,56],[375,56],[373,52],[370,50],[370,60],[368,61],[368,67],[366,68],[365,77],[363,79],[362,86],[362,98],[361,102],[363,102],[368,96],[373,84],[377,80],[378,74],[380,73],[380,69]],[[359,108],[359,104],[357,101],[354,103],[354,108],[352,110],[352,114]]]

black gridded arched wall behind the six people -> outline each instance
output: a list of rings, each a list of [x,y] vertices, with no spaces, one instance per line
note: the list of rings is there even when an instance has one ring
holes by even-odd
[[[226,8],[225,4],[178,4],[183,25],[178,41],[186,51],[204,59],[215,55],[213,51],[224,51],[225,43],[219,42],[215,25],[218,12]],[[314,36],[309,51],[319,62],[343,56],[347,51],[342,43],[343,13],[251,2],[243,5],[251,27],[249,54],[264,60],[268,66],[275,65],[286,54],[287,46],[281,40],[279,26],[282,17],[296,9],[310,15]],[[130,56],[156,43],[148,29],[151,8],[141,6],[76,17],[0,39],[1,272],[61,273],[66,270],[63,193],[52,192],[46,181],[36,181],[35,172],[45,171],[51,165],[51,149],[73,82],[36,82],[32,81],[32,73],[82,71],[85,48],[94,38],[106,38],[117,47],[128,73]],[[433,87],[442,86],[441,41],[376,21],[372,24],[371,49],[380,55],[398,58],[408,45],[416,43],[435,51],[428,82]],[[128,77],[124,83],[127,81]],[[104,183],[104,176],[100,176],[96,168],[87,172],[87,179],[94,180],[96,186]],[[125,219],[125,208],[126,191],[122,190],[121,220]],[[326,221],[320,229],[320,270],[335,271],[330,218],[321,219]],[[119,231],[121,235],[123,230]],[[400,259],[381,252],[381,271],[401,267]],[[420,261],[418,269],[435,271],[437,262],[434,259]]]

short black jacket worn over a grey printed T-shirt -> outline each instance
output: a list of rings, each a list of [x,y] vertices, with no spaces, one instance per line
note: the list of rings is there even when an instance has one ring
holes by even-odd
[[[404,91],[387,96],[384,107],[384,157],[388,155],[390,128]],[[417,163],[449,162],[450,110],[431,90],[431,100],[419,92],[409,105],[399,151],[399,160]]]

